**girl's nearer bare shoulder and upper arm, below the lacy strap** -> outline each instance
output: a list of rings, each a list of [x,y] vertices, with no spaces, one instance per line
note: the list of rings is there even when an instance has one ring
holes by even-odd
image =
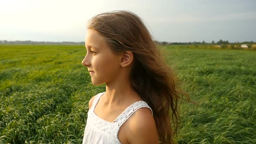
[[[158,132],[149,108],[138,109],[129,119],[129,144],[158,144]]]

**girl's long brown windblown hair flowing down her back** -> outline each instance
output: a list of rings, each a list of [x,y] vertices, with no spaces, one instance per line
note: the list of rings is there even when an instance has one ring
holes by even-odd
[[[175,72],[161,57],[143,20],[130,11],[112,11],[92,17],[87,28],[103,36],[113,52],[133,53],[132,86],[152,108],[159,142],[174,143],[180,124],[178,103],[184,99],[180,94],[188,101],[190,97],[181,90]]]

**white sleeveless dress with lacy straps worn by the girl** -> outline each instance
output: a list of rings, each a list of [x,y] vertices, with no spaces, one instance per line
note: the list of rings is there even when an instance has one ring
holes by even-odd
[[[82,144],[121,144],[118,139],[118,131],[121,125],[139,108],[149,108],[152,112],[152,109],[145,101],[136,101],[126,108],[113,122],[105,121],[99,118],[94,112],[100,97],[104,93],[98,93],[95,96],[92,107],[88,111]]]

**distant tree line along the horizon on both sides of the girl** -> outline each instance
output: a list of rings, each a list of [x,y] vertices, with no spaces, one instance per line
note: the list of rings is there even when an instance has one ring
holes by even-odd
[[[174,44],[174,45],[198,45],[198,44],[217,44],[217,45],[226,45],[226,44],[230,44],[229,41],[225,41],[220,39],[217,43],[214,42],[214,40],[211,43],[206,43],[204,40],[202,42],[186,42],[186,43],[178,43],[178,42],[160,42],[157,40],[154,40],[155,43],[159,44],[159,45],[167,45],[167,44]],[[235,43],[240,43],[240,42],[235,42]],[[251,41],[251,42],[242,42],[245,44],[256,44],[255,42]],[[7,40],[0,40],[0,44],[29,44],[29,45],[84,45],[85,42],[36,42],[36,41],[31,41],[31,40],[25,40],[25,41],[20,41],[20,40],[16,40],[16,41],[7,41]]]

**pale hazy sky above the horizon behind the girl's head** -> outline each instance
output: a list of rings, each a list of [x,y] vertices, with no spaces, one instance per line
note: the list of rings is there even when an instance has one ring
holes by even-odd
[[[256,0],[0,0],[0,40],[84,42],[88,20],[129,10],[154,40],[256,42]]]

